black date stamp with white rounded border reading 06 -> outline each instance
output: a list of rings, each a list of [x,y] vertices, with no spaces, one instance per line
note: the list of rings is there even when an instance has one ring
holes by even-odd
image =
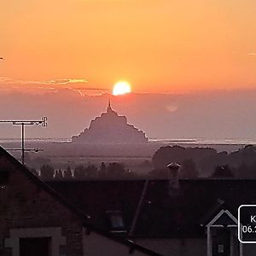
[[[256,205],[241,205],[238,208],[238,240],[241,243],[256,243]]]

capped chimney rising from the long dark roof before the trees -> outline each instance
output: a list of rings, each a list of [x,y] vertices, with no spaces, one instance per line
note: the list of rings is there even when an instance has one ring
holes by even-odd
[[[181,165],[178,163],[170,163],[168,167],[168,177],[169,177],[169,194],[178,195],[179,193],[179,169]]]

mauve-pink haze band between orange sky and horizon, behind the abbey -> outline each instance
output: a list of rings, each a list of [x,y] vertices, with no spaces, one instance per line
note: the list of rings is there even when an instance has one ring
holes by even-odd
[[[0,95],[0,119],[40,119],[46,129],[26,128],[26,137],[68,138],[78,135],[90,120],[113,109],[149,138],[256,139],[256,90],[222,90],[187,94],[108,93],[89,96],[62,89],[44,94]],[[22,109],[22,111],[20,111]],[[20,137],[20,127],[1,125],[1,137]]]

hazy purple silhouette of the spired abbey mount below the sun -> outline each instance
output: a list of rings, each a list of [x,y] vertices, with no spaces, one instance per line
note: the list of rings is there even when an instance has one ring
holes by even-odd
[[[137,144],[147,143],[148,138],[143,131],[127,123],[125,116],[113,111],[110,102],[106,113],[90,122],[79,136],[72,137],[73,143],[90,144]]]

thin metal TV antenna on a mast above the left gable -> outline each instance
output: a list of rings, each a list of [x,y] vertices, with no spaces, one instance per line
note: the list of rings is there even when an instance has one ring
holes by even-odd
[[[41,120],[0,120],[0,123],[10,123],[12,125],[21,126],[21,162],[24,165],[25,151],[42,151],[42,149],[25,149],[25,125],[42,125],[47,126],[47,117],[44,116]],[[20,150],[19,148],[9,149],[9,150]]]

